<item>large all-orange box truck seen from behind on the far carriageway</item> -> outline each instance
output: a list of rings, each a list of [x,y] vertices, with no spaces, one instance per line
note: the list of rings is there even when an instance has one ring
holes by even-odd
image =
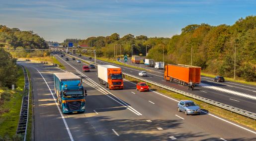
[[[182,85],[190,81],[192,81],[193,84],[199,84],[201,81],[201,67],[168,64],[165,66],[164,79],[175,81]]]

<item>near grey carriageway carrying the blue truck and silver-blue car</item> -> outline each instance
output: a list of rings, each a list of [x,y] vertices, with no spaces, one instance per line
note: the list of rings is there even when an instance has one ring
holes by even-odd
[[[56,55],[55,55],[56,56]],[[35,141],[253,141],[256,131],[213,114],[186,116],[177,111],[177,100],[160,92],[139,92],[125,80],[124,90],[99,84],[97,69],[83,72],[83,63],[56,58],[83,78],[87,89],[83,114],[62,114],[54,96],[55,67],[21,62],[31,74]]]

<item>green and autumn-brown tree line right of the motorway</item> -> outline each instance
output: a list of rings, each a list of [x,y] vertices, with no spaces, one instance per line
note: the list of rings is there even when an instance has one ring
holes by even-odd
[[[191,24],[181,29],[181,34],[171,38],[127,34],[75,39],[96,49],[98,57],[111,58],[115,54],[143,54],[156,61],[201,67],[205,72],[234,76],[236,50],[236,76],[256,81],[256,16],[238,19],[233,25]]]

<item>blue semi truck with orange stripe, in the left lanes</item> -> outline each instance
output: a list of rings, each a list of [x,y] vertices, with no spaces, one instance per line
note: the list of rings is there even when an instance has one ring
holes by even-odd
[[[71,72],[53,73],[54,90],[62,113],[85,112],[87,95],[82,78]]]

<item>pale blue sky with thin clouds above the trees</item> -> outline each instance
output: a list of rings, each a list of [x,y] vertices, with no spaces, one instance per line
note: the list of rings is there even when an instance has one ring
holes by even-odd
[[[0,24],[46,41],[129,33],[171,37],[189,24],[234,24],[256,0],[0,0]]]

